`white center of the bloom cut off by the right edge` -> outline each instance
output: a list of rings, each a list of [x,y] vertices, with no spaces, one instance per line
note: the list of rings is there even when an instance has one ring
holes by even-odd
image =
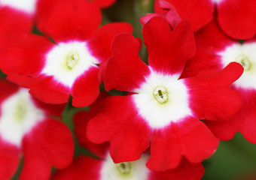
[[[238,62],[244,68],[239,80],[233,83],[245,89],[256,89],[256,43],[233,43],[218,55],[221,56],[223,68],[230,62]]]

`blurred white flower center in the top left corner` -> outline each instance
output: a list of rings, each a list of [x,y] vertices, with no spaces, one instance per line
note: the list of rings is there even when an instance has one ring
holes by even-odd
[[[26,13],[34,13],[35,12],[35,2],[37,0],[1,0],[1,6],[10,6],[17,10],[26,11]]]

